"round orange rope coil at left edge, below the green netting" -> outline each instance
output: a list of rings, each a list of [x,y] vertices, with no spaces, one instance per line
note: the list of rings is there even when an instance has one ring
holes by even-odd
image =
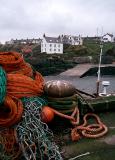
[[[21,100],[6,96],[0,106],[0,127],[10,127],[18,123],[22,117],[23,104]]]

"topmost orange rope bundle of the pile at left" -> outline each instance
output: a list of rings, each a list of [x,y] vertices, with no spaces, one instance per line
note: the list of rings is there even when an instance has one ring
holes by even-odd
[[[7,73],[19,73],[30,77],[33,75],[30,64],[17,52],[0,52],[0,65]]]

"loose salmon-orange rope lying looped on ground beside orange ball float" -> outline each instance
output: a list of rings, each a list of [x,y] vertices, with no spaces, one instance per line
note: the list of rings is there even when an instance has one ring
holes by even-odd
[[[108,132],[107,126],[102,123],[100,118],[94,113],[87,113],[83,117],[83,124],[80,125],[80,114],[77,106],[71,115],[63,114],[62,112],[50,107],[48,108],[51,109],[55,115],[70,120],[71,124],[73,125],[73,129],[71,130],[72,141],[79,140],[81,136],[86,138],[99,138]],[[88,124],[87,119],[89,117],[94,118],[96,123]]]

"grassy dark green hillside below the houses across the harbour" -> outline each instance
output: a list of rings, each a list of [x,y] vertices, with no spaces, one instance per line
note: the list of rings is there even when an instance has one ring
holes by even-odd
[[[98,41],[84,40],[82,46],[64,45],[64,53],[40,53],[40,45],[0,44],[0,51],[17,51],[43,75],[60,73],[79,63],[98,63],[100,45]],[[104,43],[102,63],[115,61],[115,43]]]

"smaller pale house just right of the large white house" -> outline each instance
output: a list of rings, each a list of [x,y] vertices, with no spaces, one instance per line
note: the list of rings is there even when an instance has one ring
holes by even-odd
[[[61,35],[61,39],[63,44],[70,44],[70,45],[82,45],[83,39],[79,36],[71,36],[71,35]]]

